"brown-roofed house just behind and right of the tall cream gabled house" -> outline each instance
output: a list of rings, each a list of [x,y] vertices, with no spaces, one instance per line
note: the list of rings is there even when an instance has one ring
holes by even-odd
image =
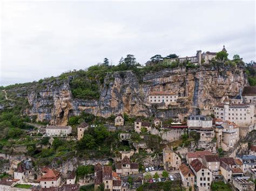
[[[220,158],[218,155],[204,155],[204,157],[202,158],[202,162],[208,169],[210,169],[213,175],[219,174]]]

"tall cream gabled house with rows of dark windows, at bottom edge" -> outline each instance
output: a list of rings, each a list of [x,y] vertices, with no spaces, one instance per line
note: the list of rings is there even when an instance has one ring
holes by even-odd
[[[196,185],[199,191],[211,190],[212,172],[198,159],[191,162],[190,168],[196,175]]]

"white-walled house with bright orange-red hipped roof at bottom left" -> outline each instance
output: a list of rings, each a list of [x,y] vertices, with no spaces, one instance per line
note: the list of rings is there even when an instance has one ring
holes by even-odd
[[[50,169],[38,181],[42,188],[58,187],[60,185],[60,172]]]

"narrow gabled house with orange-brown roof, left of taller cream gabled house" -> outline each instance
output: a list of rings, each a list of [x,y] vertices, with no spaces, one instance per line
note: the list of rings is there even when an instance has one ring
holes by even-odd
[[[186,164],[182,164],[179,167],[179,174],[184,187],[194,187],[195,176],[190,167],[188,167]]]

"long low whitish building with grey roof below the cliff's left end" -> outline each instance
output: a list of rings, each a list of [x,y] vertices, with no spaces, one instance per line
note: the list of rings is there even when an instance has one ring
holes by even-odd
[[[48,125],[45,128],[46,131],[46,135],[47,136],[68,136],[71,131],[72,128],[71,126],[52,126],[52,125]]]

